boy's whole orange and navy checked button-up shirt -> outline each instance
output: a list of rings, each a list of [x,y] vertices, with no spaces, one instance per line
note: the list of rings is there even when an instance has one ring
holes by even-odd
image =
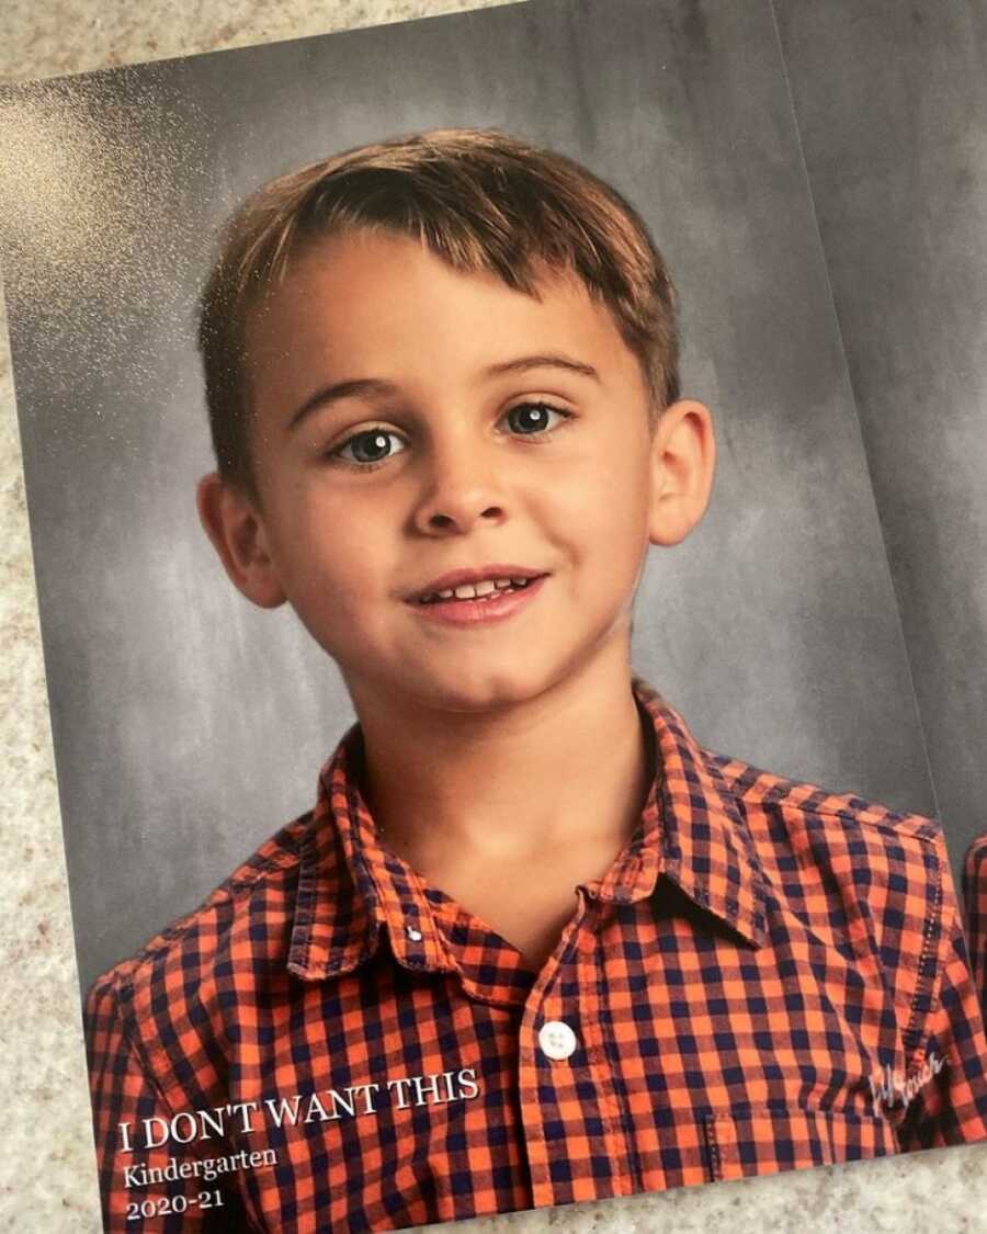
[[[540,972],[387,851],[354,729],[311,813],[95,983],[109,1229],[396,1229],[987,1138],[939,828],[635,691],[659,775]]]

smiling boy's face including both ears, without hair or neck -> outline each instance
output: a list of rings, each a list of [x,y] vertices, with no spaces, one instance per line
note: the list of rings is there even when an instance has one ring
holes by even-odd
[[[654,428],[638,359],[577,280],[535,300],[402,237],[332,237],[247,344],[260,508],[212,476],[200,511],[237,585],[291,602],[358,708],[479,711],[626,659],[649,540],[701,516],[712,436],[698,404]]]

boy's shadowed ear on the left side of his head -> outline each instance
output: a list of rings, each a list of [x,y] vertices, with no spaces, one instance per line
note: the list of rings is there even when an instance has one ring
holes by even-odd
[[[195,491],[199,518],[231,581],[262,608],[287,598],[268,547],[264,522],[253,502],[218,473],[210,471]]]

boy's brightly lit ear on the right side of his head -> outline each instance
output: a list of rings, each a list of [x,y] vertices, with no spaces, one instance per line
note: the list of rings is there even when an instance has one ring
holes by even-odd
[[[706,513],[717,449],[709,408],[693,399],[670,404],[651,437],[653,544],[683,540]]]

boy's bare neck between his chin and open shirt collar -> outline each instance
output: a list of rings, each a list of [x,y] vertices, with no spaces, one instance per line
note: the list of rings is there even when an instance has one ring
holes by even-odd
[[[653,743],[630,690],[626,640],[538,698],[495,716],[355,697],[368,803],[387,843],[428,875],[461,859],[612,856],[633,834]],[[596,877],[601,870],[587,870]]]

